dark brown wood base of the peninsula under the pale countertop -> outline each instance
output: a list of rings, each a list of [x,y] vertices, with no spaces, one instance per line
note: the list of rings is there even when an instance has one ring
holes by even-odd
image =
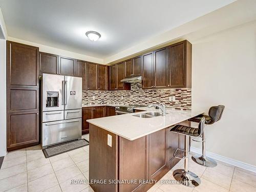
[[[89,180],[107,181],[107,184],[91,183],[94,191],[144,192],[150,189],[155,183],[143,184],[140,181],[158,181],[180,161],[173,154],[177,147],[184,146],[184,140],[170,129],[130,141],[90,124],[89,161],[94,163],[89,164]],[[108,135],[112,136],[112,147],[108,145]],[[138,182],[108,183],[115,179]]]

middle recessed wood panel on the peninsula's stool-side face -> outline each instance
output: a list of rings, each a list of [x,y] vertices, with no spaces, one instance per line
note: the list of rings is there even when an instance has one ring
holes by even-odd
[[[148,135],[148,179],[155,179],[166,166],[166,130]]]

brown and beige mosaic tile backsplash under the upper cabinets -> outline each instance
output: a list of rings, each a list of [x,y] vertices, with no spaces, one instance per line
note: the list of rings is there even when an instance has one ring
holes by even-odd
[[[170,102],[169,96],[175,96],[175,101]],[[98,104],[101,102],[144,105],[162,102],[170,108],[191,110],[191,89],[143,90],[142,83],[137,82],[131,84],[131,91],[82,91],[83,104]]]

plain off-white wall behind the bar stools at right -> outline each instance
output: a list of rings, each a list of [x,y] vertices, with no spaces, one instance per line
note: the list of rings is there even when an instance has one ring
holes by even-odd
[[[256,166],[256,21],[192,44],[192,107],[226,106],[206,127],[206,150]]]

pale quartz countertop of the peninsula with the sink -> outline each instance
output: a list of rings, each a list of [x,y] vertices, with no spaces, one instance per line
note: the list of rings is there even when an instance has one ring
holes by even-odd
[[[159,111],[147,107],[136,109],[145,111]],[[143,114],[145,113],[145,111],[110,117],[102,117],[97,119],[89,119],[87,120],[87,122],[132,141],[148,134],[165,129],[166,127],[175,125],[192,117],[203,114],[202,111],[195,110],[181,111],[166,109],[167,114],[165,116],[157,116],[152,118],[140,118],[133,116],[135,114]]]

